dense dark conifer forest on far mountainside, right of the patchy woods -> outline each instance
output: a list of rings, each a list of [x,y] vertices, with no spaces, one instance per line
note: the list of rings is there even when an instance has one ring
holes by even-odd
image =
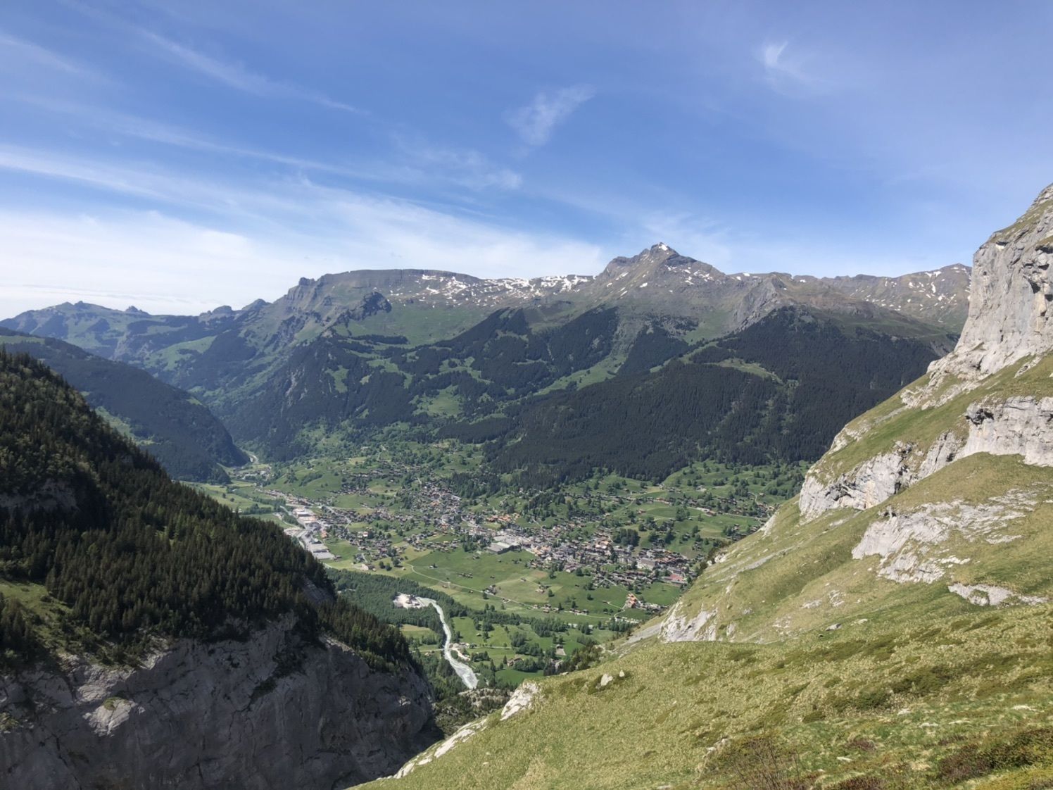
[[[651,342],[660,361],[669,338]],[[657,372],[553,392],[499,419],[445,430],[464,440],[491,439],[494,469],[517,472],[532,486],[595,470],[661,479],[699,457],[814,460],[846,421],[934,358],[918,340],[784,308]]]

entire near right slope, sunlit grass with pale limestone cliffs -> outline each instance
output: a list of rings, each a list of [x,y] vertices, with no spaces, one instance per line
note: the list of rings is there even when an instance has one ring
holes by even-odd
[[[383,788],[1053,784],[1053,186],[980,248],[955,351],[595,669]]]

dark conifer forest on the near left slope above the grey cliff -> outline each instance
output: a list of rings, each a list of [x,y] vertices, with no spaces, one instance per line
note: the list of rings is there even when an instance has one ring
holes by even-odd
[[[72,387],[28,355],[0,350],[0,579],[43,585],[67,608],[58,634],[0,600],[0,656],[59,641],[244,637],[294,614],[375,667],[411,660],[398,631],[335,594],[325,571],[275,526],[173,482]],[[75,647],[65,645],[65,647]]]

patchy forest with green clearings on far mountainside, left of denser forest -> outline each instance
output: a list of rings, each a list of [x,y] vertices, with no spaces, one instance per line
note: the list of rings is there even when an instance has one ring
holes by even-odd
[[[435,422],[417,410],[420,397],[452,388],[466,418],[485,416],[603,359],[617,327],[614,309],[544,331],[522,310],[501,310],[456,337],[410,350],[392,342],[405,338],[331,330],[297,347],[259,392],[222,416],[279,460],[310,452],[304,426],[341,427],[358,437],[393,423],[431,430]]]

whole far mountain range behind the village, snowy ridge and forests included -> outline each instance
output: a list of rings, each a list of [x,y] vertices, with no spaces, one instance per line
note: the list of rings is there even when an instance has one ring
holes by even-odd
[[[392,424],[508,445],[513,435],[540,438],[531,426],[551,430],[559,422],[552,410],[589,410],[590,399],[663,412],[665,424],[678,424],[691,421],[684,387],[715,404],[699,423],[706,435],[689,432],[687,441],[501,460],[543,482],[593,467],[668,473],[715,443],[740,460],[814,459],[845,419],[950,349],[968,281],[961,265],[898,278],[726,275],[659,243],[595,277],[361,271],[302,279],[277,301],[239,311],[151,316],[78,302],[2,325],[140,367],[192,393],[239,443],[276,459],[312,452],[319,433],[357,439]],[[823,332],[845,342],[804,342]],[[840,359],[842,349],[856,351]],[[808,381],[795,390],[799,371],[782,360],[806,352]],[[742,387],[753,392],[749,408],[719,395]],[[818,428],[800,415],[816,388],[833,396]],[[749,412],[747,423],[718,436],[737,422],[732,412]],[[530,454],[530,442],[519,445]],[[661,455],[668,460],[656,465]]]

